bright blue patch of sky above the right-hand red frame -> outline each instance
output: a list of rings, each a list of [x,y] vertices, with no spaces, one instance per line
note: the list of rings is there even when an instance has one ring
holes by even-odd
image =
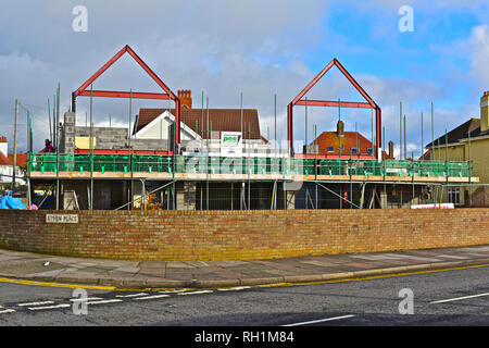
[[[480,7],[487,9],[487,7]],[[471,36],[474,27],[485,24],[474,9],[443,9],[441,11],[414,10],[414,32],[401,33],[397,11],[355,11],[355,5],[328,7],[322,22],[321,44],[306,52],[304,62],[313,71],[324,66],[325,57],[337,57],[351,72],[377,77],[434,80],[440,86],[447,78],[447,69],[462,73],[469,70],[469,57],[452,52],[449,48]],[[459,85],[462,90],[471,82]],[[449,98],[455,107],[463,100]],[[467,97],[467,96],[465,96]]]

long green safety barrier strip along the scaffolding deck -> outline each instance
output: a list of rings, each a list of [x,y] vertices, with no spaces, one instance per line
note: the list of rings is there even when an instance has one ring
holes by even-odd
[[[401,177],[468,177],[468,162],[334,160],[283,158],[192,158],[184,156],[29,154],[30,173],[203,173],[279,175],[360,175]],[[173,174],[172,174],[173,175]]]

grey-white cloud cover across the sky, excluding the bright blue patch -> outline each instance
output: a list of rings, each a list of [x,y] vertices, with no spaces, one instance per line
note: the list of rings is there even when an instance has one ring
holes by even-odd
[[[374,5],[392,10],[405,1],[374,1]],[[426,10],[422,1],[411,1],[415,11]],[[151,69],[176,91],[191,89],[193,103],[200,108],[200,92],[210,97],[211,108],[239,108],[239,94],[243,92],[244,108],[259,109],[262,134],[271,128],[274,136],[273,96],[277,94],[278,139],[286,136],[286,107],[314,77],[303,57],[316,47],[322,36],[328,36],[322,23],[329,1],[284,2],[273,1],[146,1],[135,7],[134,1],[84,1],[88,9],[88,33],[72,30],[72,8],[79,1],[29,3],[11,2],[9,11],[0,14],[0,122],[10,123],[14,99],[33,105],[35,139],[41,146],[47,135],[47,98],[52,99],[57,83],[62,87],[62,108],[68,108],[70,92],[78,88],[92,73],[124,45],[129,44]],[[355,2],[359,3],[359,2]],[[438,9],[436,2],[430,9]],[[474,1],[478,5],[481,1]],[[116,5],[114,5],[116,4]],[[456,1],[448,2],[457,7]],[[368,4],[369,7],[371,4]],[[472,5],[472,4],[471,4]],[[360,9],[362,5],[359,5]],[[378,10],[378,8],[375,8]],[[423,11],[424,11],[423,10]],[[387,12],[386,12],[387,13]],[[23,15],[20,25],[15,20]],[[383,15],[380,15],[383,17]],[[488,27],[474,28],[469,38],[472,48],[472,77],[480,86],[489,82],[485,64],[489,58]],[[7,34],[7,35],[5,35]],[[334,33],[333,37],[340,37]],[[329,37],[329,36],[328,36]],[[348,42],[347,42],[348,44]],[[346,45],[347,46],[347,45]],[[358,52],[365,49],[359,44]],[[454,52],[455,53],[455,52]],[[326,65],[333,57],[325,58]],[[346,66],[349,69],[349,66]],[[362,72],[351,72],[367,94],[383,108],[383,124],[387,139],[399,138],[399,101],[403,101],[409,122],[409,139],[419,142],[419,113],[428,112],[431,99],[444,98],[449,86],[419,78],[386,78]],[[324,99],[353,98],[362,100],[341,76],[328,74],[324,85],[309,95]],[[155,85],[130,59],[125,57],[101,76],[95,88],[155,91]],[[487,87],[486,87],[487,88]],[[475,101],[475,104],[477,100]],[[469,103],[474,105],[473,103]],[[140,107],[166,104],[135,101],[133,114]],[[476,107],[477,108],[477,107]],[[457,125],[465,120],[466,111],[439,110],[440,124]],[[85,119],[88,99],[78,99],[78,111]],[[127,100],[96,99],[96,123],[106,122],[109,113],[113,123],[125,124],[128,119]],[[343,111],[347,128],[354,122],[364,135],[369,135],[369,113]],[[303,110],[294,109],[296,137],[303,137]],[[46,120],[46,122],[43,121]],[[337,111],[311,109],[309,139],[312,124],[318,132],[335,128]],[[428,123],[426,123],[428,124]],[[11,133],[8,133],[11,137]],[[396,141],[396,140],[394,140]],[[399,141],[399,140],[398,140]],[[25,130],[20,132],[20,142],[25,145]],[[387,141],[386,141],[387,142]],[[425,141],[427,142],[427,141]]]

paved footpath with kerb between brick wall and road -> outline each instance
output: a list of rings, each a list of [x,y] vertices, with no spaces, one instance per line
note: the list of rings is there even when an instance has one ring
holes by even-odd
[[[489,264],[489,245],[231,261],[124,261],[0,249],[0,277],[114,289],[313,283]],[[0,279],[1,281],[1,279]]]

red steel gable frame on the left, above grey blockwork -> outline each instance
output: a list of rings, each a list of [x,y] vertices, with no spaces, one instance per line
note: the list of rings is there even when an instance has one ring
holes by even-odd
[[[130,57],[151,76],[151,78],[165,91],[156,92],[130,92],[130,91],[112,91],[112,90],[87,90],[100,75],[102,75],[112,64],[114,64],[124,53]],[[97,73],[87,79],[77,90],[72,94],[72,111],[76,112],[76,97],[108,97],[108,98],[137,98],[137,99],[163,99],[175,101],[175,144],[180,144],[180,100],[178,97],[158,77],[156,74],[139,58],[138,54],[126,45],[114,57],[112,57]]]

